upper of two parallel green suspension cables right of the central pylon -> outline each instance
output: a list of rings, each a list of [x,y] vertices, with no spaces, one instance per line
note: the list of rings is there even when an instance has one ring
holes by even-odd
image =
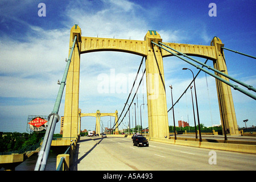
[[[218,71],[217,69],[212,68],[212,67],[210,67],[210,66],[207,65],[207,64],[201,63],[200,61],[198,61],[198,60],[196,60],[196,59],[193,59],[192,57],[187,56],[187,55],[185,55],[184,53],[179,52],[179,51],[175,50],[174,48],[171,48],[171,47],[167,46],[166,44],[163,44],[163,43],[161,43],[161,42],[159,42],[159,44],[161,44],[161,45],[163,45],[163,46],[165,46],[165,47],[167,47],[167,48],[172,49],[172,51],[175,51],[175,52],[177,52],[177,53],[180,53],[180,54],[183,55],[184,57],[187,57],[188,59],[191,59],[191,60],[195,61],[196,63],[199,63],[199,64],[203,65],[204,67],[207,67],[208,69],[210,69],[210,70],[212,70],[212,71],[214,71],[214,72],[216,72],[216,73],[218,73],[218,74],[220,74],[220,75],[222,75],[222,76],[225,76],[225,77],[229,78],[230,80],[233,80],[234,82],[237,82],[238,84],[240,84],[240,85],[242,85],[242,86],[245,86],[245,87],[246,87],[247,89],[249,89],[249,90],[253,90],[254,92],[256,92],[256,89],[253,88],[253,86],[251,86],[251,85],[247,85],[247,84],[245,84],[244,82],[239,81],[239,80],[237,80],[236,78],[233,78],[233,77],[231,77],[231,76],[229,76],[229,75],[226,75],[225,73],[222,73],[221,71]]]

